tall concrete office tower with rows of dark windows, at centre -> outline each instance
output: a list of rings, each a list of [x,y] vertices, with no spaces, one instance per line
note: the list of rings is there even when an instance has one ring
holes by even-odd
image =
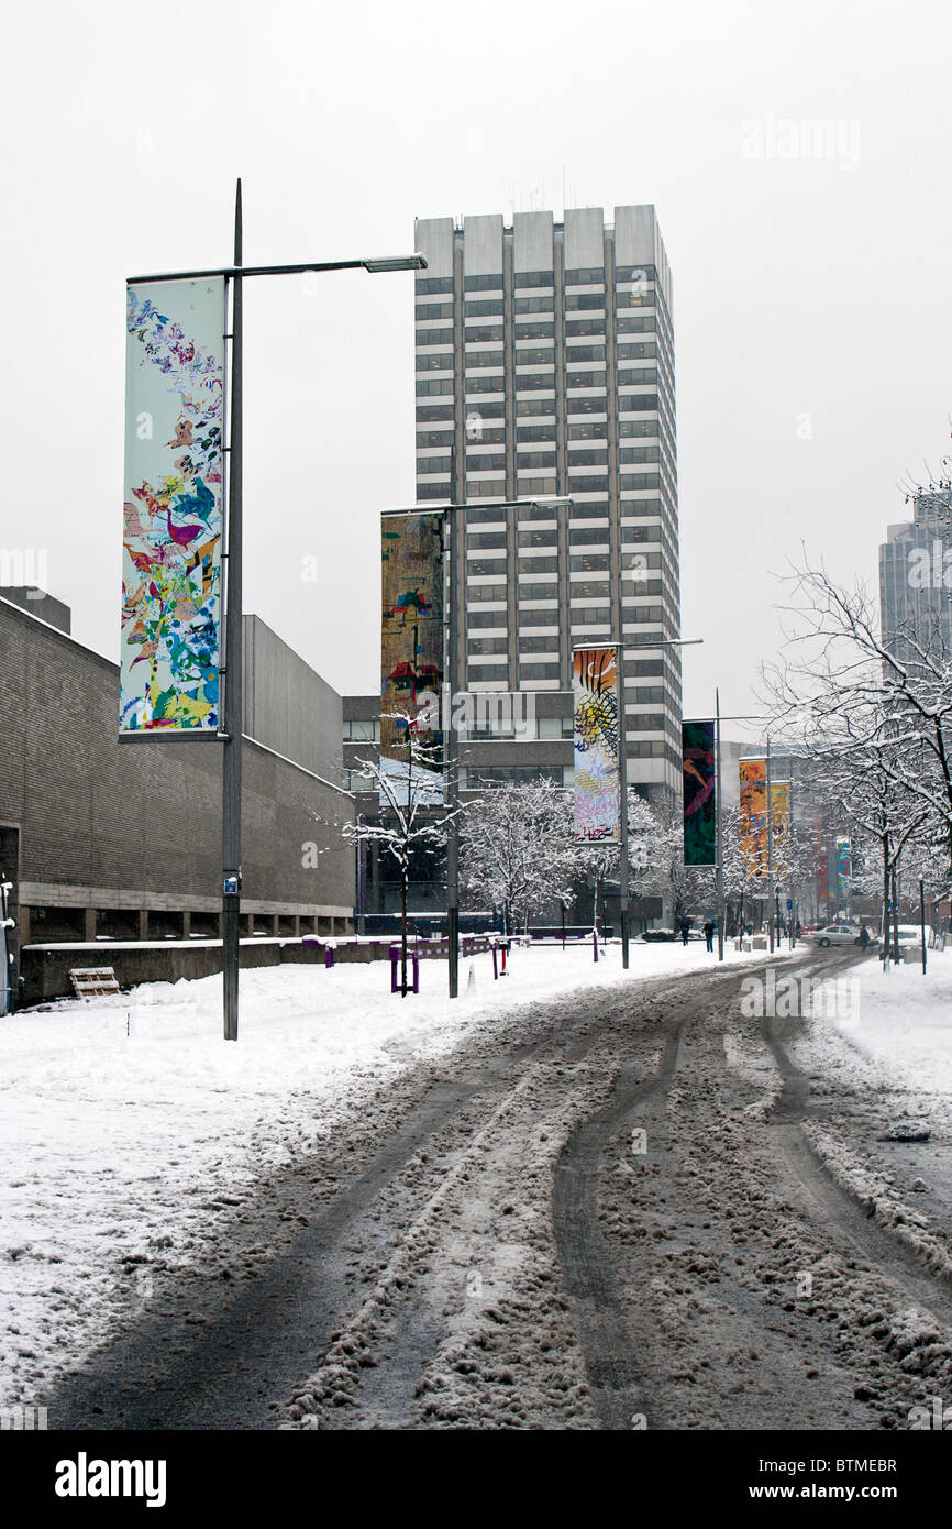
[[[680,790],[680,657],[657,647],[680,636],[680,589],[654,208],[420,219],[416,248],[417,500],[451,497],[455,451],[468,502],[457,673],[471,691],[556,691],[567,716],[573,645],[620,636],[628,780]],[[527,495],[572,505],[480,503]]]

